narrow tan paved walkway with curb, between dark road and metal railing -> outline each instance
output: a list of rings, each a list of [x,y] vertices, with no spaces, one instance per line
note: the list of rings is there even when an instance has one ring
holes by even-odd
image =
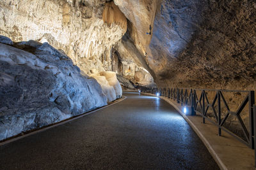
[[[146,95],[155,96],[155,94]],[[179,111],[180,115],[189,122],[189,125],[191,125],[196,134],[198,134],[204,142],[221,169],[255,170],[254,150],[225,131],[221,131],[221,136],[218,136],[218,127],[216,127],[216,125],[208,120],[205,120],[205,124],[203,124],[200,115],[185,115],[182,112],[184,107],[181,106],[181,104],[178,104],[177,101],[173,101],[173,99],[164,96],[160,96],[160,98],[170,103],[177,111]]]

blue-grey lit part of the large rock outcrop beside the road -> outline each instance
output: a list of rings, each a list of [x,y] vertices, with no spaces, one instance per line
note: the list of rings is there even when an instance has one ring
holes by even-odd
[[[99,83],[48,43],[33,53],[0,43],[0,140],[106,104]]]

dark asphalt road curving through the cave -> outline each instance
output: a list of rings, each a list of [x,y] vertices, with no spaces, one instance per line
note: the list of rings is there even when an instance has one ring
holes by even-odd
[[[124,95],[120,103],[0,146],[0,169],[219,169],[170,104]]]

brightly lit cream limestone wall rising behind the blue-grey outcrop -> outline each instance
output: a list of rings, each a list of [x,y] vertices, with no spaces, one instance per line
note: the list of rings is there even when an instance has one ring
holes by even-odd
[[[13,41],[47,41],[67,53],[84,73],[111,70],[110,50],[124,30],[104,24],[104,5],[99,0],[4,0],[0,34]]]

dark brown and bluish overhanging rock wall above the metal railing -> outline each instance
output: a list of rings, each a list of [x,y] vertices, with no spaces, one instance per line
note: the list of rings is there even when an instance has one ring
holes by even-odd
[[[148,65],[159,85],[255,89],[256,2],[162,1]]]

